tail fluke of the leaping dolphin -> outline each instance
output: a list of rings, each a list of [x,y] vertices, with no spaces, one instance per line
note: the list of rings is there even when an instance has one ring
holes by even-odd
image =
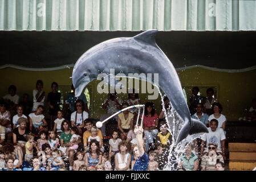
[[[181,140],[185,139],[188,134],[193,135],[196,133],[208,133],[207,127],[204,123],[198,121],[197,119],[191,118],[191,125],[189,122],[186,122],[185,125],[182,127],[180,134],[178,134],[178,138],[176,140],[175,145],[181,142]]]

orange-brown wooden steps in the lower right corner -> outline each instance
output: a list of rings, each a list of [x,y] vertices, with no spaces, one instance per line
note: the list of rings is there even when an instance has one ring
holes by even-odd
[[[256,167],[256,143],[229,143],[229,170],[251,171]]]

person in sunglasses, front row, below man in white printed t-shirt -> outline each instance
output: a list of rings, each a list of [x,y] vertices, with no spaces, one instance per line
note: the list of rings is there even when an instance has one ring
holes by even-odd
[[[224,159],[220,153],[217,152],[218,144],[209,143],[208,152],[202,156],[201,169],[202,171],[215,171],[217,161],[224,163]]]

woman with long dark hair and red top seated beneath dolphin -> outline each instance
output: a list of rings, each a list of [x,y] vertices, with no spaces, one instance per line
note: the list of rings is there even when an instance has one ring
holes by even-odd
[[[140,115],[140,119],[142,118],[142,114]],[[145,104],[145,113],[143,118],[143,129],[146,132],[146,135],[152,135],[152,138],[156,138],[157,127],[159,125],[158,115],[155,111],[155,105],[153,102],[147,102]]]

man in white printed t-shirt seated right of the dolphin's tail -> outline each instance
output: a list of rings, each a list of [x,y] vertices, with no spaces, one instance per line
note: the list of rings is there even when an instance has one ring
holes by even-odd
[[[202,158],[202,154],[205,152],[208,152],[208,148],[204,148],[205,142],[206,146],[209,146],[209,143],[216,143],[218,148],[217,152],[222,152],[222,156],[224,160],[226,160],[225,157],[225,134],[222,128],[218,128],[218,120],[217,119],[212,119],[210,121],[210,127],[208,127],[209,133],[205,133],[202,135],[201,140],[201,154],[200,158]]]

